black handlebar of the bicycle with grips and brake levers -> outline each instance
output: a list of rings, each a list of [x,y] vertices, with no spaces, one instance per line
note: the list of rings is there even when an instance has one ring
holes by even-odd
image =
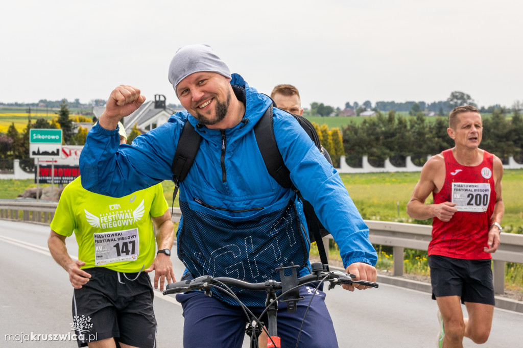
[[[298,286],[306,283],[325,281],[331,283],[329,289],[335,285],[342,284],[359,284],[369,287],[378,287],[378,283],[368,281],[355,281],[354,274],[347,274],[341,271],[317,271],[315,273],[307,274],[298,279]],[[211,285],[218,285],[220,283],[226,285],[232,285],[247,290],[258,290],[258,291],[278,291],[282,289],[282,282],[275,280],[267,280],[264,283],[248,283],[238,279],[229,277],[213,277],[210,275],[202,275],[195,279],[180,281],[175,283],[167,284],[166,289],[163,291],[164,295],[184,293],[187,291],[194,290],[207,290]]]

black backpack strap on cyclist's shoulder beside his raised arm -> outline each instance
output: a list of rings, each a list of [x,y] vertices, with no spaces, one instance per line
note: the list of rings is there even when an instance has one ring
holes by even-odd
[[[174,153],[173,165],[171,167],[173,181],[177,187],[179,187],[179,182],[185,179],[191,169],[200,148],[200,142],[201,135],[196,132],[189,121],[185,122],[178,145],[176,145],[176,152]]]

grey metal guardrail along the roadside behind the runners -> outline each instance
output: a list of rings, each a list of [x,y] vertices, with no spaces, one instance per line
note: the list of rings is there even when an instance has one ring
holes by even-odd
[[[0,201],[0,218],[49,225],[56,205],[58,205],[56,202]],[[175,207],[172,212],[173,222],[179,222],[180,208]],[[394,276],[403,275],[404,249],[427,250],[431,239],[431,226],[373,220],[365,220],[365,223],[370,229],[370,241],[377,245],[391,246],[393,259],[401,260],[393,263]],[[325,245],[328,245],[330,238],[331,235],[324,237]],[[501,245],[492,254],[492,258],[494,291],[502,294],[505,288],[505,262],[523,264],[523,235],[501,233]]]

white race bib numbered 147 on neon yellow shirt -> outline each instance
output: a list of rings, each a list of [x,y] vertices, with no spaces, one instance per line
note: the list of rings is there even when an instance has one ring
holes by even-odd
[[[95,265],[134,261],[140,254],[138,228],[95,233]]]

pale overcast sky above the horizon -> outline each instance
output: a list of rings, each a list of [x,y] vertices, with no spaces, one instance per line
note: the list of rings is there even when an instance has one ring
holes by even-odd
[[[208,43],[260,92],[313,101],[523,101],[523,2],[41,1],[0,7],[0,101],[107,99],[119,84],[178,103],[176,50]]]

